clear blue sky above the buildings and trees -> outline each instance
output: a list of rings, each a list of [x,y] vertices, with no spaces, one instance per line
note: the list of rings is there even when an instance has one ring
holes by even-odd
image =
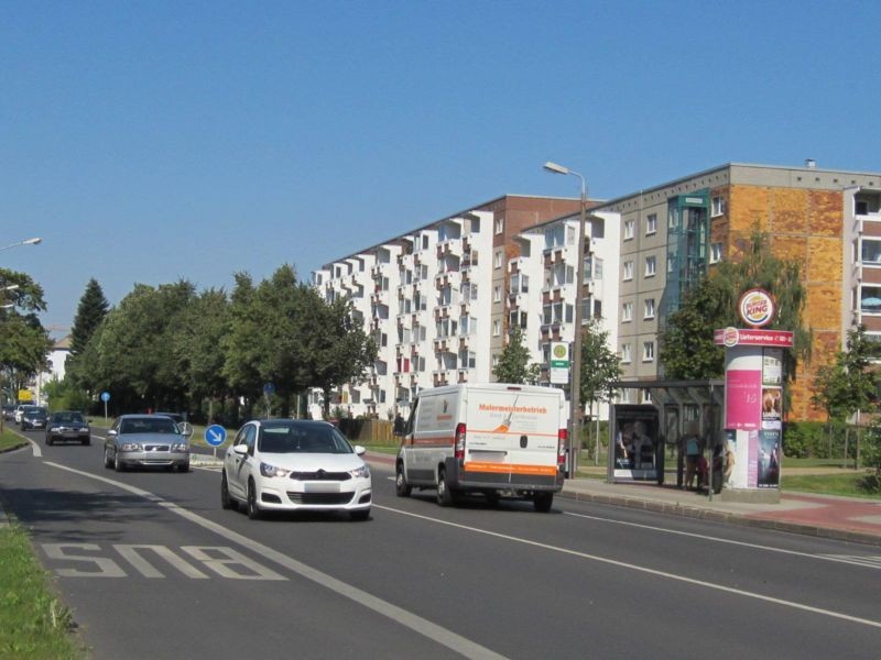
[[[881,170],[874,2],[0,0],[0,265],[302,278],[507,193],[727,162]],[[56,336],[58,332],[55,333]]]

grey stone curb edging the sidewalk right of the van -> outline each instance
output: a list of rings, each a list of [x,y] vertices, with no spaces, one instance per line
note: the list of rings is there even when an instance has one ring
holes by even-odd
[[[729,525],[740,525],[741,527],[754,527],[761,529],[772,529],[775,531],[787,531],[803,536],[811,536],[822,539],[834,539],[838,541],[850,541],[853,543],[864,543],[868,546],[881,547],[881,537],[872,534],[852,531],[848,529],[837,529],[833,527],[817,527],[814,525],[802,525],[800,522],[786,522],[784,520],[768,520],[763,518],[747,518],[738,514],[726,514],[705,508],[685,506],[682,504],[666,504],[663,502],[650,502],[637,499],[621,495],[595,495],[591,493],[578,493],[566,491],[557,493],[558,496],[579,502],[594,502],[596,504],[609,504],[612,506],[623,506],[628,508],[642,509],[659,514],[668,514],[685,518],[698,518],[714,522],[726,522]]]

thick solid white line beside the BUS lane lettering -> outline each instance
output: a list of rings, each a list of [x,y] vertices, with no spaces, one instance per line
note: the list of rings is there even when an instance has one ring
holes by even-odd
[[[137,486],[131,486],[129,484],[118,482],[106,476],[99,476],[97,474],[91,474],[89,472],[84,472],[81,470],[76,470],[74,468],[68,468],[67,465],[62,465],[61,463],[53,463],[52,461],[46,461],[46,465],[51,465],[53,468],[57,468],[58,470],[64,470],[66,472],[72,472],[74,474],[79,474],[80,476],[85,476],[87,479],[91,479],[95,481],[99,481],[109,485],[112,485],[117,488],[121,488],[140,497],[144,497],[150,502],[153,502],[167,510],[177,514],[178,516],[195,522],[199,527],[204,529],[208,529],[214,531],[215,534],[221,536],[222,538],[238,543],[243,548],[247,548],[254,552],[255,554],[260,554],[261,557],[269,559],[278,563],[279,565],[289,569],[290,571],[296,573],[297,575],[305,578],[307,580],[312,580],[313,582],[328,588],[340,596],[349,598],[368,609],[376,612],[377,614],[381,614],[393,622],[410,628],[414,632],[418,632],[437,644],[447,647],[448,649],[464,656],[466,658],[472,660],[507,660],[504,656],[501,656],[487,647],[483,647],[476,641],[471,641],[470,639],[463,637],[461,635],[457,635],[453,630],[448,630],[443,626],[438,626],[412,612],[407,612],[402,607],[398,607],[388,601],[383,601],[377,596],[373,596],[366,591],[358,588],[357,586],[352,586],[341,580],[337,580],[336,578],[328,575],[317,569],[313,569],[312,566],[304,564],[286,554],[279,552],[278,550],[273,550],[269,546],[264,546],[253,539],[250,539],[246,536],[242,536],[231,529],[227,529],[222,525],[218,525],[207,518],[203,518],[202,516],[194,514],[193,512],[185,509],[183,507],[177,506],[173,502],[166,502],[162,497],[150,493],[149,491],[143,491],[138,488]],[[376,505],[373,505],[376,506]]]

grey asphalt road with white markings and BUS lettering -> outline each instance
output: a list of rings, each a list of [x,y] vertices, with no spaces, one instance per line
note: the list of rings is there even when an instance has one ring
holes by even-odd
[[[217,471],[0,455],[95,658],[877,658],[877,549],[557,498],[251,521]],[[42,455],[35,455],[40,453]]]

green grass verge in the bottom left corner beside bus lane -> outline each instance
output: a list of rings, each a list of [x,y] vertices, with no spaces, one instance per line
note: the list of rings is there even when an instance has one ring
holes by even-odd
[[[24,529],[0,527],[0,658],[85,658],[70,635],[70,610],[52,592]]]

